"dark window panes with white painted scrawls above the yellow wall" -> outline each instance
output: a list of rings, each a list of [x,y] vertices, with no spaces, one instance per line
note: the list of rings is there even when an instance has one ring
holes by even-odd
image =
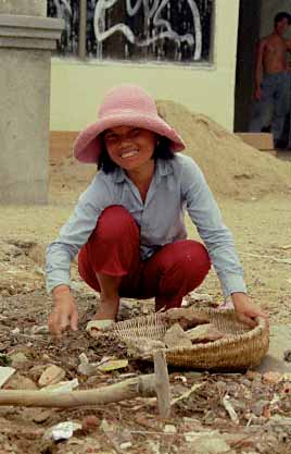
[[[49,0],[65,20],[59,52],[77,53],[76,0]],[[87,54],[97,59],[207,60],[213,0],[87,0]]]

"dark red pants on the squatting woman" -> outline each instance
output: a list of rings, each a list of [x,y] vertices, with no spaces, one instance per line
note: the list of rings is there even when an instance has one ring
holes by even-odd
[[[155,297],[156,308],[179,307],[211,268],[205,247],[195,241],[167,244],[147,260],[140,259],[139,228],[121,206],[106,208],[78,256],[80,277],[100,292],[96,273],[123,277],[119,296]]]

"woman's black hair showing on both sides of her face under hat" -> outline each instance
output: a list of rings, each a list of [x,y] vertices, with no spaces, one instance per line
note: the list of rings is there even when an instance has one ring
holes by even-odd
[[[110,158],[104,140],[101,137],[101,144],[102,144],[102,150],[98,160],[98,170],[103,170],[104,173],[112,173],[114,170],[118,167],[113,162],[113,160]],[[153,151],[152,159],[156,161],[156,159],[163,159],[164,161],[174,159],[175,155],[169,149],[170,140],[167,137],[159,137],[159,143],[155,146],[155,149]]]

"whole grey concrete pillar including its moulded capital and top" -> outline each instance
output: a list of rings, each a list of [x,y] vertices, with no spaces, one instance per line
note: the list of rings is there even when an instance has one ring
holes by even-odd
[[[48,200],[50,51],[64,24],[46,7],[0,0],[0,204]]]

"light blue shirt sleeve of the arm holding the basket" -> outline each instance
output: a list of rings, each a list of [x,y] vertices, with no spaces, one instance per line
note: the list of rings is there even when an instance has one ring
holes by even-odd
[[[224,296],[235,292],[246,293],[232,234],[223,222],[220,210],[202,171],[189,157],[182,168],[181,192],[188,213],[208,250]]]

